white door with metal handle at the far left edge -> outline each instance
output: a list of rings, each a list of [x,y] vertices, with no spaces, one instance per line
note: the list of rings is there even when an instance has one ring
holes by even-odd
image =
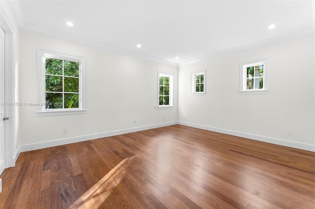
[[[4,162],[4,31],[0,27],[0,174],[5,168]]]

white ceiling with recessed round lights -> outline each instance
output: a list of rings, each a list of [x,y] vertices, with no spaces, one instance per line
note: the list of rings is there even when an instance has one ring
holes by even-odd
[[[312,0],[14,0],[10,5],[22,30],[176,64],[315,31]],[[271,24],[276,27],[269,30]]]

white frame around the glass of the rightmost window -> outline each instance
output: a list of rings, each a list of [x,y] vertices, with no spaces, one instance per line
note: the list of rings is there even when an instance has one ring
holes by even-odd
[[[250,66],[264,65],[264,76],[263,76],[263,88],[262,89],[246,89],[246,73],[247,68]],[[249,62],[240,63],[240,93],[241,94],[267,94],[269,92],[268,82],[268,59],[259,59]]]

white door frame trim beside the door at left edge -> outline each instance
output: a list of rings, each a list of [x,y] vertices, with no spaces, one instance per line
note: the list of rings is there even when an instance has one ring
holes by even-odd
[[[4,79],[5,79],[5,103],[17,104],[17,82],[15,78],[17,76],[17,65],[15,65],[14,60],[14,37],[15,31],[11,26],[10,22],[4,15],[4,11],[0,8],[0,26],[4,30],[5,43],[4,43]],[[9,120],[5,121],[5,168],[13,167],[15,165],[16,157],[19,153],[15,153],[15,111],[19,106],[5,106],[5,117],[9,117]]]

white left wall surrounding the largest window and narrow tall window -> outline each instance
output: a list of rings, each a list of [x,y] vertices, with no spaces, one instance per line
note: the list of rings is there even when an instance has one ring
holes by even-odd
[[[20,101],[22,103],[38,103],[36,49],[86,58],[87,112],[77,115],[38,116],[36,106],[21,107],[22,151],[35,148],[26,145],[52,140],[90,135],[77,138],[84,140],[103,136],[101,133],[104,132],[120,133],[120,130],[136,131],[141,130],[139,127],[152,128],[163,124],[169,125],[167,123],[170,122],[177,123],[177,97],[174,100],[175,108],[154,108],[158,103],[158,71],[174,75],[174,94],[178,94],[177,66],[108,52],[26,31],[20,31]],[[67,129],[68,133],[64,134],[63,129]]]

